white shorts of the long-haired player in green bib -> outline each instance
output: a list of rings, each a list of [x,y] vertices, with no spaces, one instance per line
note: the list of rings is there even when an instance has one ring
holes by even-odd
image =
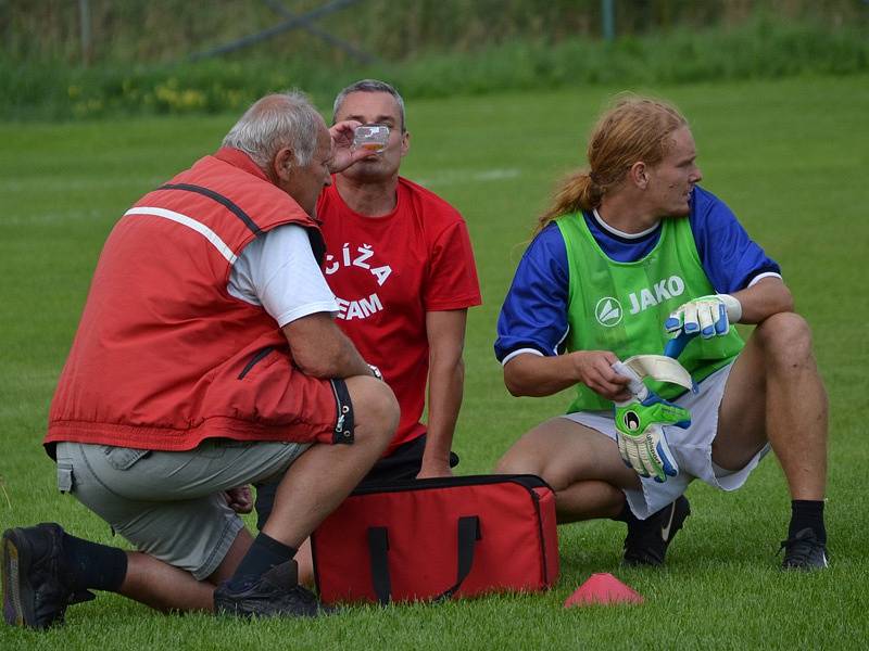
[[[706,378],[700,383],[700,393],[688,392],[673,400],[691,411],[691,425],[688,430],[672,426],[664,429],[670,451],[679,464],[679,474],[667,477],[663,484],[651,477],[640,477],[642,483],[640,490],[625,489],[628,506],[641,520],[645,520],[682,495],[695,478],[722,490],[735,490],[745,483],[748,474],[769,451],[767,444],[740,470],[725,470],[713,463],[711,446],[718,432],[718,408],[732,367],[730,363]],[[613,441],[616,439],[616,424],[612,412],[577,411],[567,413],[563,418],[596,430]]]

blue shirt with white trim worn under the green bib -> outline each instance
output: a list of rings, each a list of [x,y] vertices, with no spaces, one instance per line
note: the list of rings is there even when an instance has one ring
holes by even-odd
[[[612,259],[632,263],[657,244],[660,224],[632,235],[619,235],[591,213],[585,224]],[[715,291],[731,294],[760,276],[781,276],[779,265],[748,237],[731,209],[713,193],[695,187],[688,217],[703,269]],[[498,319],[495,357],[502,363],[519,350],[557,355],[567,336],[567,250],[558,227],[544,228],[522,255]]]

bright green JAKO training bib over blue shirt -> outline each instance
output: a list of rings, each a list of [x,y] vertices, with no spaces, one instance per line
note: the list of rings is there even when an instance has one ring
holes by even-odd
[[[714,294],[701,264],[688,218],[666,218],[658,243],[644,258],[618,263],[601,250],[581,213],[555,220],[567,247],[570,275],[565,339],[568,352],[612,350],[619,359],[632,355],[660,355],[669,339],[664,321],[692,298]],[[725,336],[694,339],[679,361],[695,381],[729,363],[742,349],[735,328]],[[650,383],[653,391],[672,399],[684,390]],[[568,412],[610,409],[613,403],[584,384]]]

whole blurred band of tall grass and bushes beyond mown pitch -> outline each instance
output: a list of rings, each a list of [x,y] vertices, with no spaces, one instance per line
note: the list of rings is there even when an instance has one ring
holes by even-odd
[[[300,13],[318,4],[287,7]],[[616,0],[612,41],[600,36],[599,0],[363,0],[317,23],[375,54],[368,64],[303,30],[190,61],[280,22],[269,2],[90,0],[90,7],[93,46],[83,65],[76,2],[0,4],[0,118],[238,112],[286,88],[328,105],[361,77],[387,79],[418,99],[869,69],[862,0]]]

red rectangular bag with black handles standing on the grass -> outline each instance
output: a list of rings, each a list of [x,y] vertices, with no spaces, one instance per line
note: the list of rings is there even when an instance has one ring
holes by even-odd
[[[360,488],[311,548],[325,603],[542,590],[558,577],[555,495],[536,475]]]

